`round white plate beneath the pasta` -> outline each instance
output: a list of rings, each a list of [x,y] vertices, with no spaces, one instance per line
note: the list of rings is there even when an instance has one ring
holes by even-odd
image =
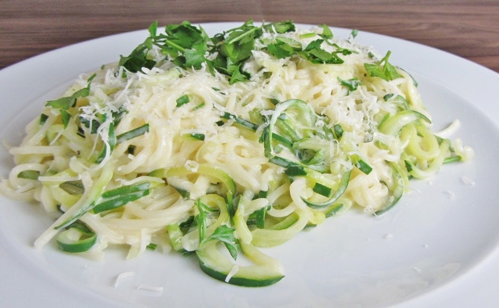
[[[208,33],[241,23],[207,23]],[[333,28],[338,37],[349,30]],[[116,61],[146,37],[135,31],[82,42],[0,71],[2,140],[17,144],[44,101],[58,96],[79,73]],[[218,306],[403,307],[488,306],[497,302],[499,274],[499,74],[452,54],[360,31],[358,42],[380,52],[419,81],[435,130],[455,118],[457,133],[475,148],[468,163],[446,165],[430,181],[380,217],[351,210],[289,242],[266,250],[286,277],[264,288],[214,280],[195,258],[147,252],[125,261],[111,251],[103,262],[64,254],[33,240],[50,224],[36,204],[0,199],[0,306]],[[5,150],[1,176],[13,162]],[[475,181],[467,185],[466,176]],[[115,286],[116,277],[132,271]],[[138,288],[161,286],[162,291]]]

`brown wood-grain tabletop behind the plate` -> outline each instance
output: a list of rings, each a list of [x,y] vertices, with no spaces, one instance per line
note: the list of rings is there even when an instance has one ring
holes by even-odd
[[[498,0],[1,0],[0,68],[87,39],[189,20],[326,23],[405,38],[499,72]]]

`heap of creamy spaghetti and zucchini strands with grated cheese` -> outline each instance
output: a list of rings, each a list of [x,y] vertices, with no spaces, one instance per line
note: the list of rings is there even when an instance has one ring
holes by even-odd
[[[461,139],[444,138],[458,122],[440,136],[430,130],[417,83],[389,64],[389,53],[357,44],[353,34],[328,36],[325,26],[270,25],[237,30],[259,32],[232,77],[210,64],[229,52],[224,47],[184,65],[187,53],[162,50],[168,38],[150,28],[154,44],[137,49],[145,55],[139,69],[123,59],[104,65],[47,102],[9,149],[15,166],[0,185],[8,197],[60,212],[35,246],[77,228],[57,239],[63,250],[97,255],[119,245],[135,258],[151,245],[173,248],[196,252],[222,281],[271,284],[282,266],[257,247],[350,208],[381,214],[411,178],[473,158]],[[278,47],[292,52],[279,56]],[[322,52],[336,62],[321,62]],[[238,72],[246,80],[234,82]],[[225,254],[230,262],[216,267],[219,253],[207,252],[219,249],[213,242],[242,251],[254,267]]]

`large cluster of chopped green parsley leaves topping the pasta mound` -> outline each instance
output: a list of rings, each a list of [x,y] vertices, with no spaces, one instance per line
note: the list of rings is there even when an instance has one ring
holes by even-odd
[[[333,38],[333,33],[327,25],[321,24],[319,27],[322,28],[321,33],[310,34],[320,38],[304,48],[296,40],[277,36],[264,50],[276,58],[297,55],[312,63],[343,63],[339,54],[347,55],[352,51],[329,41]],[[249,19],[239,27],[209,37],[201,26],[196,27],[189,21],[167,24],[165,33],[158,33],[158,22],[154,21],[149,26],[150,36],[130,55],[121,56],[119,64],[132,72],[139,71],[142,67],[152,68],[156,62],[148,58],[148,52],[155,45],[169,60],[184,69],[200,69],[205,66],[212,74],[218,71],[226,75],[230,84],[247,81],[250,74],[244,70],[244,64],[250,58],[255,41],[263,31],[281,34],[295,31],[295,25],[291,20],[285,20],[256,26]],[[335,50],[326,51],[321,47],[322,43],[334,46]]]

